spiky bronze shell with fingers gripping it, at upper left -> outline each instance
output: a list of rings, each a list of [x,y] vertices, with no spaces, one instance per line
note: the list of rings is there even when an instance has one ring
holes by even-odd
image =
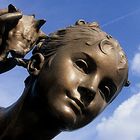
[[[24,56],[47,37],[41,30],[45,20],[35,16],[22,15],[13,5],[0,11],[0,73],[10,70],[22,61]],[[11,55],[8,58],[8,55]]]

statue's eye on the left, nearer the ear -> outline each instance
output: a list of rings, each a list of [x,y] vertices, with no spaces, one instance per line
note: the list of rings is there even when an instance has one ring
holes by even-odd
[[[88,73],[89,71],[89,66],[88,66],[88,63],[83,60],[83,59],[77,59],[75,61],[75,65],[76,67],[78,68],[78,70],[82,71],[83,73]]]

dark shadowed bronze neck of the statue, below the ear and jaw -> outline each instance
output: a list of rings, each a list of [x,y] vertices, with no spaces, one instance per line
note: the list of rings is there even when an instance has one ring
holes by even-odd
[[[11,140],[12,137],[14,140],[52,139],[60,133],[59,124],[48,114],[41,98],[32,93],[34,87],[28,88],[15,104],[7,108],[5,116],[9,115],[10,126],[5,136]]]

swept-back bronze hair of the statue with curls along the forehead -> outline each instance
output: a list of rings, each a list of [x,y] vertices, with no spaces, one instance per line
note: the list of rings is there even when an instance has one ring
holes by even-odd
[[[127,69],[126,71],[128,73],[127,58],[118,41],[103,32],[96,22],[86,23],[84,20],[79,20],[73,26],[51,33],[48,38],[43,41],[42,45],[35,47],[33,54],[38,52],[42,53],[45,59],[49,60],[49,58],[56,53],[57,49],[68,43],[74,44],[77,40],[85,41],[87,47],[98,44],[103,53],[105,53],[102,49],[104,43],[113,44],[112,46],[117,50],[120,57],[118,69]],[[127,77],[124,85],[128,86]]]

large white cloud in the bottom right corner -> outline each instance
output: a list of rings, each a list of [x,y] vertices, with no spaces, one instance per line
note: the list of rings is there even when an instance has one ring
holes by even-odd
[[[140,93],[122,103],[96,127],[97,140],[140,140]]]

